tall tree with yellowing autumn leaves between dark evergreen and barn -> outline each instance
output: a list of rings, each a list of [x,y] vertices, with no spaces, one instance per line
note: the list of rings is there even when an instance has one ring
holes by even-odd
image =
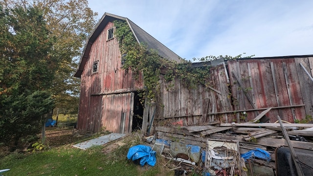
[[[77,114],[79,79],[72,75],[97,13],[88,7],[87,0],[4,0],[3,4],[24,9],[32,6],[43,11],[46,28],[56,40],[52,55],[60,60],[51,87],[56,108]]]

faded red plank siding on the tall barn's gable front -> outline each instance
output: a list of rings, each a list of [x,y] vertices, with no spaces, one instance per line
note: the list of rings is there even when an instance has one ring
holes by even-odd
[[[106,119],[112,120],[113,117],[107,117],[107,115],[115,114],[116,107],[129,110],[129,107],[123,107],[128,106],[128,104],[124,104],[125,102],[120,100],[112,100],[114,98],[108,98],[104,94],[143,88],[141,75],[139,79],[135,80],[131,70],[126,72],[121,67],[121,53],[116,38],[107,41],[107,31],[112,27],[113,23],[109,22],[92,44],[89,59],[81,76],[80,107],[77,124],[78,129],[81,130],[98,132],[103,126],[110,129],[113,126],[112,130],[117,132],[116,129],[119,128],[119,124],[116,124],[117,121],[112,121],[113,125],[110,122],[103,123]],[[96,61],[99,61],[98,72],[92,73],[92,65]],[[105,107],[104,104],[109,107]],[[110,112],[111,110],[112,112]],[[121,115],[114,116],[114,118],[120,117]],[[126,124],[127,128],[128,125]]]

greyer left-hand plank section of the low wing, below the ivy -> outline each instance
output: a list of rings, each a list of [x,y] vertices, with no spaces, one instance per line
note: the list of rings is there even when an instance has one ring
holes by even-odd
[[[208,74],[212,75],[208,80],[210,86],[217,91],[204,88],[203,85],[190,89],[185,86],[184,80],[175,79],[166,82],[162,75],[156,121],[182,121],[183,125],[194,125],[212,120],[230,121],[232,114],[209,115],[206,120],[202,118],[204,107],[208,107],[207,112],[233,110],[224,66],[216,66]]]

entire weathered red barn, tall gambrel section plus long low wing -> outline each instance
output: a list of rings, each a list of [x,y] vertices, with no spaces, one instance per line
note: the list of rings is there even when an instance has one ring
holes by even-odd
[[[113,21],[126,21],[137,42],[146,44],[167,59],[179,56],[127,18],[105,13],[85,45],[75,77],[81,78],[78,129],[129,133],[141,128],[150,132],[158,125],[220,122],[248,122],[263,110],[270,122],[280,115],[285,121],[311,122],[313,117],[313,55],[243,58],[209,63],[207,85],[184,87],[175,78],[167,82],[160,75],[156,105],[139,103],[138,91],[144,90],[142,77],[134,79],[125,72]]]

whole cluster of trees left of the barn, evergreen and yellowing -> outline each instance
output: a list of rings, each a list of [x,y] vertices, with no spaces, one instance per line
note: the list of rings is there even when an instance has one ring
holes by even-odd
[[[72,75],[97,14],[87,0],[3,0],[0,7],[0,144],[16,145],[37,134],[44,117],[24,109],[46,113],[53,98],[61,112],[77,113]],[[10,130],[12,140],[4,140]]]

